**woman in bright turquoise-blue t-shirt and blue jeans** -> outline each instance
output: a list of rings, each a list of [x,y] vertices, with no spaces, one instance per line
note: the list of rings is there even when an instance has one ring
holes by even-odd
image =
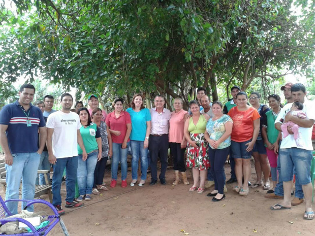
[[[148,145],[151,129],[150,110],[143,106],[143,98],[140,93],[136,93],[131,102],[131,108],[127,112],[131,116],[132,130],[130,133],[130,147],[132,151],[130,186],[135,186],[138,179],[138,162],[141,156],[141,180],[139,186],[143,186],[148,170]]]

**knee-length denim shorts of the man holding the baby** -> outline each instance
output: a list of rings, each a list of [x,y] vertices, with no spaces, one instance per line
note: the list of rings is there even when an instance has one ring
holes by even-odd
[[[279,150],[282,181],[292,181],[294,170],[296,177],[302,185],[311,182],[310,164],[312,152],[301,148],[282,148]]]

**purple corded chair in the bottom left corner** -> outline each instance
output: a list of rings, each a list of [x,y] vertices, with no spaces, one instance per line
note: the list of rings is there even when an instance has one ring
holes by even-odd
[[[6,203],[8,201],[26,201],[27,202],[27,205],[26,207],[24,208],[24,210],[30,206],[30,205],[33,205],[33,204],[36,204],[36,203],[41,203],[41,204],[45,204],[47,205],[48,207],[51,208],[51,210],[53,211],[53,215],[49,215],[48,216],[48,221],[49,221],[49,224],[46,225],[45,227],[43,228],[40,228],[38,230],[35,229],[35,227],[33,225],[31,225],[28,221],[26,221],[25,219],[22,219],[22,218],[6,218],[6,216],[12,216],[13,214],[8,210],[7,206],[6,206]],[[2,233],[0,235],[15,235],[15,236],[28,236],[28,235],[36,235],[36,236],[40,236],[40,235],[47,235],[49,233],[50,230],[52,230],[52,228],[59,222],[60,220],[60,216],[57,212],[57,210],[55,209],[55,207],[48,203],[48,201],[45,201],[45,200],[20,200],[20,199],[17,199],[17,200],[6,200],[4,201],[2,199],[2,197],[0,196],[0,223],[1,224],[6,224],[8,222],[12,222],[12,221],[19,221],[19,222],[22,222],[24,224],[26,224],[31,230],[32,232],[26,232],[26,233],[18,233],[18,234],[5,234],[5,233]]]

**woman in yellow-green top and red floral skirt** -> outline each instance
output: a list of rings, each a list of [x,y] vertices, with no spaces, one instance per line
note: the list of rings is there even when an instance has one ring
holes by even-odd
[[[193,116],[185,121],[184,136],[187,143],[187,167],[193,168],[194,185],[189,189],[195,191],[200,176],[200,185],[198,193],[203,193],[205,181],[207,178],[207,169],[209,168],[209,158],[207,154],[208,144],[204,138],[206,124],[210,116],[200,114],[199,103],[192,100],[189,107]]]

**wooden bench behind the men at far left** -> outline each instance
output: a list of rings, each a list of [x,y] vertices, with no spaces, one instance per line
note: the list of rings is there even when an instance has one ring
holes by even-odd
[[[35,196],[34,197],[39,197],[43,194],[48,194],[49,197],[49,201],[50,203],[52,203],[52,193],[51,193],[51,185],[49,184],[47,175],[50,171],[46,171],[46,170],[42,170],[42,171],[38,171],[38,174],[44,174],[45,177],[45,181],[48,184],[45,185],[35,185]],[[6,192],[7,190],[7,182],[6,182],[6,176],[7,176],[7,172],[6,172],[6,167],[5,167],[5,160],[0,160],[0,184],[2,184],[4,192]],[[22,180],[21,180],[22,182]],[[22,189],[20,189],[19,191],[19,195],[22,195]]]

